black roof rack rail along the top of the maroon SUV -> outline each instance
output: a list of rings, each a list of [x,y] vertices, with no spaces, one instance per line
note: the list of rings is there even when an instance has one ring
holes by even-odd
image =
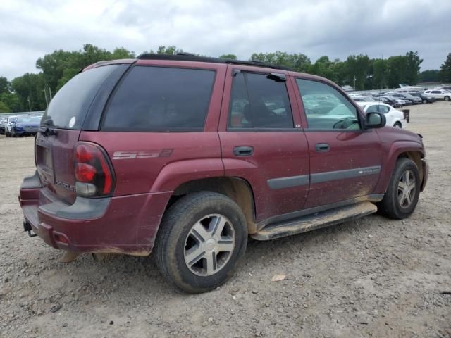
[[[232,58],[211,58],[208,56],[197,56],[191,53],[178,53],[175,55],[169,54],[149,54],[144,53],[137,56],[139,60],[172,60],[172,61],[196,61],[196,62],[211,62],[211,63],[227,63],[230,65],[253,65],[255,67],[271,68],[271,69],[281,69],[281,70],[292,70],[283,65],[273,65],[271,63],[264,63],[261,61],[242,61],[234,60]]]

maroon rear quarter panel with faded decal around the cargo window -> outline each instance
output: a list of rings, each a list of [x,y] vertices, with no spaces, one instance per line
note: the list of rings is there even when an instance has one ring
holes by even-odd
[[[164,66],[159,60],[139,65]],[[168,192],[202,177],[223,176],[218,120],[226,65],[180,61],[171,67],[216,71],[204,132],[103,132],[83,131],[80,141],[104,147],[116,174],[113,196]]]

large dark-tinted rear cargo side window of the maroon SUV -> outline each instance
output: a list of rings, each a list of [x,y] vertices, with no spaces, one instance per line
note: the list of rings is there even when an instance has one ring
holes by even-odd
[[[214,70],[135,66],[113,94],[102,130],[202,131]]]

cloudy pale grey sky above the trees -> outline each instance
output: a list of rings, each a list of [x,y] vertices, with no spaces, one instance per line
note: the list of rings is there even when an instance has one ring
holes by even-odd
[[[37,58],[83,44],[245,60],[286,51],[313,62],[412,50],[422,70],[438,69],[451,52],[451,0],[0,0],[0,76],[37,73]]]

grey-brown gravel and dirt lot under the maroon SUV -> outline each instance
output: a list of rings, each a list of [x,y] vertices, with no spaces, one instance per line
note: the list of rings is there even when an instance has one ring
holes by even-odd
[[[431,163],[411,218],[250,242],[237,275],[196,296],[151,258],[63,264],[27,237],[17,195],[33,138],[1,136],[0,337],[451,337],[451,104],[411,115]]]

